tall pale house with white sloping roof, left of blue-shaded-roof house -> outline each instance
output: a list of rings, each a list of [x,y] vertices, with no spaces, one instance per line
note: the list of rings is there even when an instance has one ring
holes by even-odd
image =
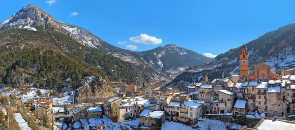
[[[235,104],[235,93],[229,90],[219,90],[219,112],[231,113]]]

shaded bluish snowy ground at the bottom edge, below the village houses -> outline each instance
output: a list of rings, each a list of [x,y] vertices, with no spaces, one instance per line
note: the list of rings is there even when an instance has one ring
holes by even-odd
[[[235,123],[225,123],[219,120],[210,120],[210,119],[202,119],[199,118],[199,121],[196,126],[199,126],[199,130],[207,130],[207,124],[211,124],[211,130],[227,130],[226,127],[229,126],[232,129],[240,129],[241,125],[237,125]],[[198,129],[193,129],[192,127],[186,126],[181,123],[176,123],[176,122],[169,122],[165,121],[165,123],[162,125],[161,130],[198,130]]]

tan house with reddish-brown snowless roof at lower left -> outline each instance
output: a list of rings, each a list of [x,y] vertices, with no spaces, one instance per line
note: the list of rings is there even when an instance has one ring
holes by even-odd
[[[52,119],[52,101],[49,100],[38,100],[35,106],[35,115],[37,118],[46,117],[48,120]]]

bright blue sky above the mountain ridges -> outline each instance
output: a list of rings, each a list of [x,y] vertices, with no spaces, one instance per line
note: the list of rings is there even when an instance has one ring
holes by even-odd
[[[29,3],[134,51],[174,43],[217,55],[295,23],[294,0],[2,0],[0,21]]]

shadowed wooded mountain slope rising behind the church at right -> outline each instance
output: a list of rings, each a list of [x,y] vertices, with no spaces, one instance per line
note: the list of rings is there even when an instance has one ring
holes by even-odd
[[[242,46],[242,43],[237,44]],[[249,54],[250,70],[260,63],[271,65],[273,70],[280,70],[282,67],[292,68],[295,66],[295,24],[267,32],[245,46]],[[239,51],[240,47],[230,49],[210,62],[190,67],[167,86],[178,87],[180,82],[186,85],[199,82],[204,80],[206,74],[211,80],[220,78],[222,72],[225,72],[226,76],[239,74]]]

